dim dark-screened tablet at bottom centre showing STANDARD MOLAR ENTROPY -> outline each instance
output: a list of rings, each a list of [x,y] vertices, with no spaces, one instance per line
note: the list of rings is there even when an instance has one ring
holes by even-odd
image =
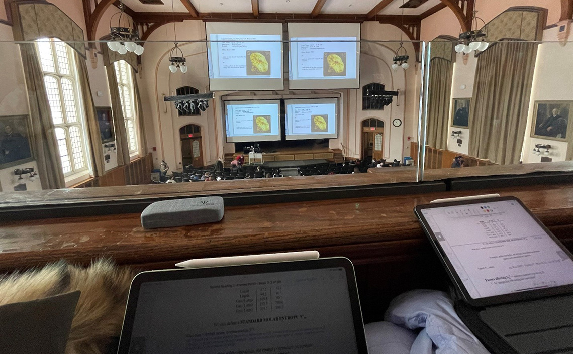
[[[138,274],[119,354],[367,354],[347,258]]]

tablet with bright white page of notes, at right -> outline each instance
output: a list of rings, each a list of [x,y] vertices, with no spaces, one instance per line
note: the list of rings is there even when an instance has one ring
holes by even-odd
[[[415,207],[454,285],[474,306],[573,293],[573,257],[513,196]]]

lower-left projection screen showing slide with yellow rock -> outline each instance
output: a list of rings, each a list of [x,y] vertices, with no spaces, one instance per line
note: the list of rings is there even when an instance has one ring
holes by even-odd
[[[281,140],[280,101],[227,101],[227,143]]]

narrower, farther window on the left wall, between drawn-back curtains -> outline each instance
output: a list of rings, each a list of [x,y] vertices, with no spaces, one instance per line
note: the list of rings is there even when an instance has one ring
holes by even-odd
[[[129,154],[136,154],[138,152],[138,135],[136,132],[134,77],[131,74],[131,66],[125,60],[116,61],[113,66],[115,67],[121,109],[123,109]]]

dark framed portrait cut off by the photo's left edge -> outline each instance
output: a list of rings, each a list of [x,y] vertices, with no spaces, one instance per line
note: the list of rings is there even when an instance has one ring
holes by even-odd
[[[0,170],[34,160],[31,133],[27,115],[0,116]]]

